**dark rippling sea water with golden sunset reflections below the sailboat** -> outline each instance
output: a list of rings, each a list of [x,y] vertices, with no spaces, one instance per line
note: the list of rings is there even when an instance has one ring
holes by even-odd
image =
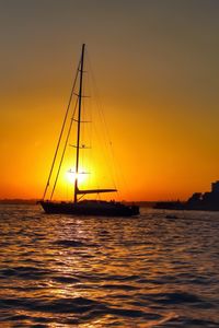
[[[0,206],[0,327],[219,327],[219,213],[166,213]]]

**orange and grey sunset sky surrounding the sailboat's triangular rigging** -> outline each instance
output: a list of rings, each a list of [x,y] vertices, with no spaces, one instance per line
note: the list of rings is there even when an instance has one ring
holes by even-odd
[[[209,190],[219,179],[218,17],[217,0],[0,0],[0,198],[42,197],[82,43],[120,198]]]

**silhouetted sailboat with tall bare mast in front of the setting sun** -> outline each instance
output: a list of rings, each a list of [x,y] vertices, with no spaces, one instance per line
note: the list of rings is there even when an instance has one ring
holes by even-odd
[[[67,112],[64,118],[64,124],[62,124],[62,128],[61,128],[61,132],[59,136],[59,140],[58,140],[58,144],[56,148],[56,152],[55,152],[55,156],[53,160],[53,164],[51,164],[51,168],[49,172],[49,176],[48,176],[48,180],[45,187],[45,191],[44,191],[44,196],[42,198],[42,200],[39,201],[41,206],[43,207],[44,211],[46,213],[64,213],[64,214],[72,214],[72,215],[101,215],[101,216],[131,216],[131,215],[137,215],[139,214],[139,207],[138,206],[128,206],[118,201],[103,201],[103,200],[90,200],[90,199],[83,199],[82,198],[87,195],[90,194],[103,194],[103,192],[114,192],[117,191],[117,189],[115,188],[107,188],[107,189],[81,189],[79,188],[79,164],[80,164],[80,155],[81,155],[81,148],[84,148],[84,145],[81,147],[80,144],[80,137],[81,137],[81,124],[82,121],[82,97],[83,95],[83,74],[84,74],[84,49],[85,49],[85,45],[82,45],[82,51],[81,51],[81,57],[80,57],[80,61],[79,61],[79,66],[78,66],[78,70],[77,70],[77,74],[76,74],[76,80],[71,90],[71,95],[70,95],[70,99],[69,99],[69,104],[67,107]],[[79,81],[78,81],[79,79]],[[76,81],[78,81],[79,83],[79,90],[78,93],[74,91],[76,89]],[[76,177],[74,177],[74,188],[73,188],[73,199],[71,201],[54,201],[53,200],[53,195],[56,188],[56,183],[57,183],[57,178],[51,191],[51,196],[49,199],[46,199],[46,195],[47,195],[47,189],[49,187],[50,184],[50,178],[51,178],[51,174],[55,167],[55,163],[57,160],[57,153],[60,147],[60,142],[61,142],[61,138],[64,134],[64,130],[65,130],[65,126],[67,124],[67,117],[68,117],[68,113],[69,113],[69,108],[71,105],[71,101],[72,101],[72,96],[76,95],[77,96],[77,118],[73,119],[77,122],[77,141],[76,141],[76,163],[74,163],[74,173],[76,173]],[[83,109],[84,110],[84,109]],[[72,122],[72,118],[71,118],[71,122]],[[69,132],[68,132],[69,136]],[[68,138],[67,138],[68,141]],[[67,144],[66,141],[66,144]],[[66,148],[66,145],[65,145]],[[62,157],[64,157],[65,151],[62,153],[61,156],[61,161],[59,163],[58,166],[58,174],[61,167],[61,163],[62,163]]]

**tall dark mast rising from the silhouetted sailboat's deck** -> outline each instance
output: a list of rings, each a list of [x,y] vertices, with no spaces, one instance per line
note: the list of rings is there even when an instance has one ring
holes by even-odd
[[[77,202],[78,194],[78,173],[79,173],[79,150],[80,150],[80,130],[81,130],[81,99],[83,86],[83,58],[85,44],[82,45],[81,65],[80,65],[80,84],[79,84],[79,110],[78,110],[78,133],[77,133],[77,153],[76,153],[76,180],[74,180],[74,202]]]

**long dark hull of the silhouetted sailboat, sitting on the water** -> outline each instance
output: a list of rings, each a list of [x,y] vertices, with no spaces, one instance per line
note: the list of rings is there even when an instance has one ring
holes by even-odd
[[[132,216],[139,214],[139,207],[125,206],[114,201],[55,202],[39,201],[47,214]]]

